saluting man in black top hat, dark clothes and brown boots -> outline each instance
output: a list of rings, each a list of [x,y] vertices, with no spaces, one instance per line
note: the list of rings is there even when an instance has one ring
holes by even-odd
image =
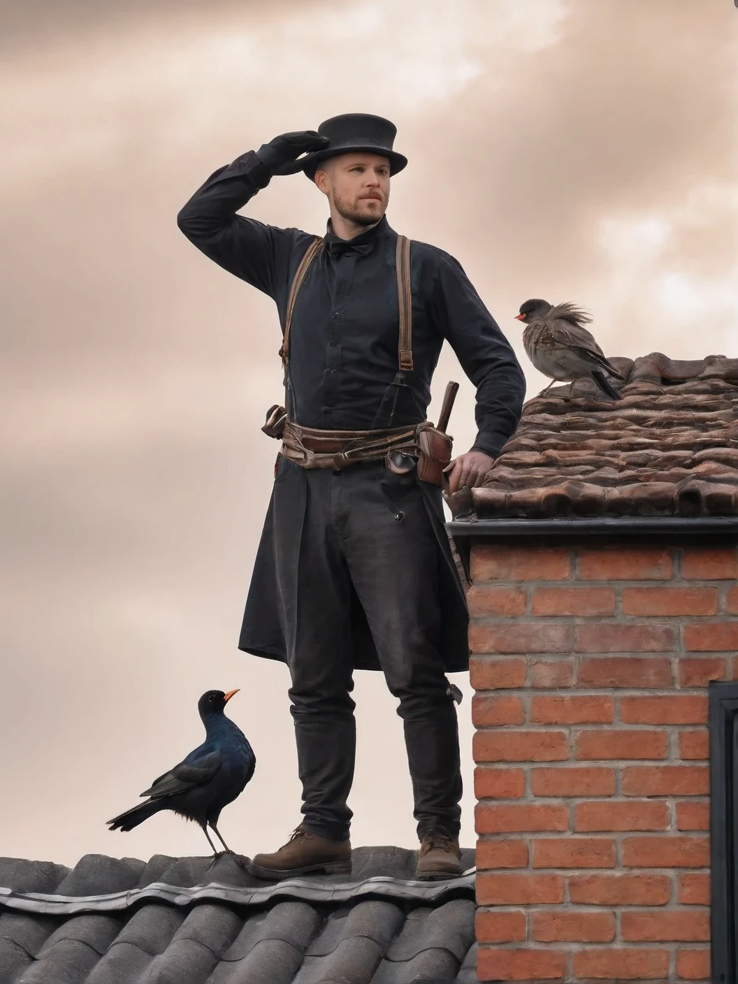
[[[345,114],[318,133],[282,134],[215,171],[178,216],[203,253],[276,301],[283,331],[286,421],[265,426],[282,446],[239,647],[289,667],[303,822],[254,858],[263,878],[350,871],[352,673],[380,667],[404,723],[417,876],[461,873],[445,674],[468,667],[468,618],[443,523],[451,456],[425,413],[447,338],[476,386],[478,425],[473,448],[446,469],[449,489],[479,485],[518,424],[524,382],[457,261],[418,242],[409,259],[402,252],[385,217],[390,179],[407,162],[396,132]],[[328,199],[322,241],[236,215],[273,176],[298,170]]]

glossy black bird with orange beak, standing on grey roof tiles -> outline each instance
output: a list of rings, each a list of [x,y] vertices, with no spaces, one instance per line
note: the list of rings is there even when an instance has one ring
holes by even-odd
[[[205,741],[154,779],[142,796],[149,799],[107,821],[109,830],[133,830],[160,810],[173,810],[202,827],[215,858],[234,854],[217,830],[220,811],[239,796],[256,768],[256,756],[241,729],[223,713],[238,690],[209,690],[198,701]],[[215,830],[224,851],[217,851],[208,827]]]

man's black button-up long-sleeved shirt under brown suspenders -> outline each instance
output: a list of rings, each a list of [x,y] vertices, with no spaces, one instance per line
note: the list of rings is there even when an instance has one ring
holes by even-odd
[[[254,152],[243,154],[211,175],[177,221],[206,256],[276,301],[283,330],[292,277],[314,237],[236,215],[270,178]],[[461,265],[443,250],[413,240],[413,369],[405,374],[404,387],[390,391],[388,401],[398,372],[397,233],[384,217],[343,240],[329,222],[325,245],[305,277],[292,316],[293,419],[326,430],[420,423],[448,338],[476,386],[474,448],[499,455],[521,417],[523,372]],[[395,412],[388,417],[390,403]]]

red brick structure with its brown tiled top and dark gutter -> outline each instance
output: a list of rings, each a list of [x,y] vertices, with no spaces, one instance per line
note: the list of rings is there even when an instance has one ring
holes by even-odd
[[[738,678],[733,395],[693,379],[615,406],[532,400],[450,524],[470,578],[480,981],[710,979],[707,689]]]

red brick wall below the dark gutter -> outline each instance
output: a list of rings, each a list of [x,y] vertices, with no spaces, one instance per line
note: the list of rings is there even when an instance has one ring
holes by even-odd
[[[709,978],[738,556],[642,544],[472,548],[480,980]]]

